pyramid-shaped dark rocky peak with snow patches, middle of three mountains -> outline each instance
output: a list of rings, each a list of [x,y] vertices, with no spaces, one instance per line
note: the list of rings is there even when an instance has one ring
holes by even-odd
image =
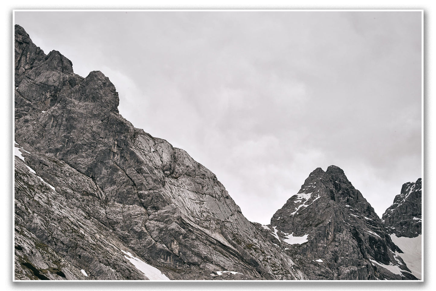
[[[344,171],[315,169],[271,218],[309,279],[414,280],[381,220]]]

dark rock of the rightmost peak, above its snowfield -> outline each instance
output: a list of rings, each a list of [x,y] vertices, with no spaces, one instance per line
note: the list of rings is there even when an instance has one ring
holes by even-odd
[[[401,193],[381,216],[386,232],[397,237],[417,237],[421,234],[421,178],[404,183]]]

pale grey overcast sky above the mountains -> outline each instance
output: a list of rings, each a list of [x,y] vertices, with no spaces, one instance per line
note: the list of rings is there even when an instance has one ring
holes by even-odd
[[[381,214],[421,173],[421,12],[15,12],[137,128],[215,173],[251,221],[317,167]]]

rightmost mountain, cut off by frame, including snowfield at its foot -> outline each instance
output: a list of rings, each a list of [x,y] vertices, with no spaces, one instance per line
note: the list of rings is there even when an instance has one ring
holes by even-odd
[[[404,183],[394,203],[381,216],[386,232],[401,249],[400,255],[412,274],[422,277],[422,179]]]

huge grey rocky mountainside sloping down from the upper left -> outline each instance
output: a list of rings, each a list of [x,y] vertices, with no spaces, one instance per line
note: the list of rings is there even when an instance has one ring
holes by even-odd
[[[307,278],[213,173],[118,103],[102,72],[74,74],[15,26],[17,280]]]

